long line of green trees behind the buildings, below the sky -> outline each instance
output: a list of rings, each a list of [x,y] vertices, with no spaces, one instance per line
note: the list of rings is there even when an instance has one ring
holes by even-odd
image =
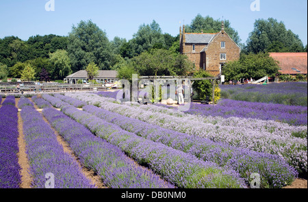
[[[304,47],[298,35],[274,18],[256,20],[246,44],[228,20],[224,21],[224,26],[242,49],[241,59],[225,66],[225,73],[230,78],[254,69],[251,62],[250,66],[246,65],[251,57],[267,61],[268,52],[307,52],[307,45]],[[185,27],[186,32],[215,33],[220,31],[221,21],[198,14]],[[37,35],[26,41],[17,36],[0,39],[0,79],[62,80],[70,73],[86,70],[89,64],[96,65],[99,70],[116,70],[118,77],[125,79],[132,73],[188,75],[195,70],[194,64],[179,53],[179,35],[163,33],[155,21],[140,25],[131,40],[119,37],[109,40],[106,32],[92,21],[73,25],[68,36]],[[268,62],[254,64],[267,65]],[[272,72],[278,72],[277,66],[274,70],[270,68]]]

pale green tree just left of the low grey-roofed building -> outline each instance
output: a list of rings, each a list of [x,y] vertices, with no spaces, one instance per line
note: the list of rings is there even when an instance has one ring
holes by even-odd
[[[53,66],[53,79],[64,79],[72,73],[70,58],[65,50],[57,50],[49,54],[50,62]]]

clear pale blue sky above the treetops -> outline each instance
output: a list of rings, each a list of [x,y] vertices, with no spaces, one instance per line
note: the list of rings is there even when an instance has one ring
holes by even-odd
[[[197,15],[228,19],[246,42],[259,18],[276,18],[298,34],[307,45],[307,0],[259,0],[260,10],[253,12],[254,0],[53,0],[55,11],[45,10],[49,0],[0,0],[0,38],[18,36],[27,40],[37,34],[68,36],[73,25],[92,20],[112,40],[115,36],[133,37],[138,27],[155,20],[164,33],[177,36],[180,22],[190,24]]]

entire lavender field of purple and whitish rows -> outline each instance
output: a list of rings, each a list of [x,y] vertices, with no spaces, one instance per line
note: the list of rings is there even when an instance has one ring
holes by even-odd
[[[231,87],[234,94],[245,92],[239,86],[227,91]],[[251,89],[257,88],[262,87]],[[261,90],[270,94],[269,86]],[[44,188],[47,173],[54,174],[55,188],[98,188],[80,166],[96,173],[106,188],[250,188],[255,173],[261,188],[307,179],[307,105],[229,97],[179,112],[164,105],[118,103],[116,94],[41,94],[18,103],[5,98],[0,124],[10,125],[3,127],[0,143],[12,145],[1,147],[1,164],[12,166],[1,167],[1,188],[21,188],[17,113],[31,188]]]

